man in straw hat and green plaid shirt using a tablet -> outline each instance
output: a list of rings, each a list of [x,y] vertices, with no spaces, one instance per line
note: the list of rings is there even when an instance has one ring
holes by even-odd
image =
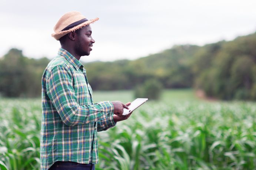
[[[90,24],[81,13],[64,14],[52,36],[61,48],[42,77],[42,170],[94,169],[98,163],[97,131],[126,120],[119,101],[93,103],[92,88],[79,59],[89,55],[95,41]]]

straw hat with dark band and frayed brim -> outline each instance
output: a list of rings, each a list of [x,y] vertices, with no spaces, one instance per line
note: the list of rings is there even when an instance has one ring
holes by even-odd
[[[51,36],[56,40],[59,40],[64,35],[94,23],[97,20],[99,20],[99,18],[87,20],[80,12],[70,11],[60,17],[59,21],[53,28],[54,33],[51,34]]]

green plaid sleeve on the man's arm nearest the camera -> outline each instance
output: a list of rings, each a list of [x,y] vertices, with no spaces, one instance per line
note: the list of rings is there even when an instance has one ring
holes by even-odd
[[[63,65],[57,65],[50,71],[46,90],[61,120],[68,126],[104,120],[114,110],[110,101],[79,105],[73,88],[72,74]]]

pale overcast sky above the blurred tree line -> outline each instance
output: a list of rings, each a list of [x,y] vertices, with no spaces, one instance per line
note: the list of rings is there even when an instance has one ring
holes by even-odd
[[[51,34],[68,11],[100,18],[91,24],[96,43],[83,62],[135,59],[256,31],[256,0],[1,0],[0,56],[15,47],[27,57],[55,57],[60,44]]]

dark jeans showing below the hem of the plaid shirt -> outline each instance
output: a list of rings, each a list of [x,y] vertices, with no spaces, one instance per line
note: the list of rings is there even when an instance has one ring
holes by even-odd
[[[77,162],[55,162],[49,170],[95,170],[94,164],[82,164]]]

